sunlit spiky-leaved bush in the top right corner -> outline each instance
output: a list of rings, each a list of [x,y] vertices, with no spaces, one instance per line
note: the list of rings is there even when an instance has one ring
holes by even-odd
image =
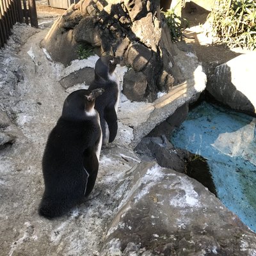
[[[208,16],[213,36],[228,47],[256,49],[256,1],[216,0]]]

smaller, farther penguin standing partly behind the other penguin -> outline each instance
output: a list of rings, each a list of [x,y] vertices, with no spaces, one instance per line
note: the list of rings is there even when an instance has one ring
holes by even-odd
[[[101,56],[95,63],[95,77],[89,90],[103,88],[104,93],[95,100],[95,109],[100,115],[102,129],[102,145],[111,143],[116,138],[118,129],[117,108],[119,103],[119,80],[115,76],[115,68],[122,57]]]

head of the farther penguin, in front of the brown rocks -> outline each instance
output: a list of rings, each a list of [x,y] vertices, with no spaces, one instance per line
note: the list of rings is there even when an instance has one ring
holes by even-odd
[[[108,81],[113,79],[113,73],[115,71],[116,65],[122,61],[122,57],[114,57],[110,55],[101,56],[97,60],[94,68],[95,80],[96,81]]]

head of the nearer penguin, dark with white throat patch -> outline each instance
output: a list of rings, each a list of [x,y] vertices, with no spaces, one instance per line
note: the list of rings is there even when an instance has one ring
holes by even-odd
[[[95,116],[95,99],[104,92],[98,88],[94,90],[77,90],[65,99],[62,117],[67,120],[84,120],[88,116]]]

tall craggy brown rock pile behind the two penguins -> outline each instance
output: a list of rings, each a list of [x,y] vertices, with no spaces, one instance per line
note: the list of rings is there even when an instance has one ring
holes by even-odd
[[[80,1],[52,26],[42,45],[65,65],[77,58],[77,44],[92,45],[100,55],[124,56],[136,77],[124,94],[132,101],[152,102],[157,92],[184,81],[159,6],[150,0]],[[131,81],[131,75],[125,76]]]

